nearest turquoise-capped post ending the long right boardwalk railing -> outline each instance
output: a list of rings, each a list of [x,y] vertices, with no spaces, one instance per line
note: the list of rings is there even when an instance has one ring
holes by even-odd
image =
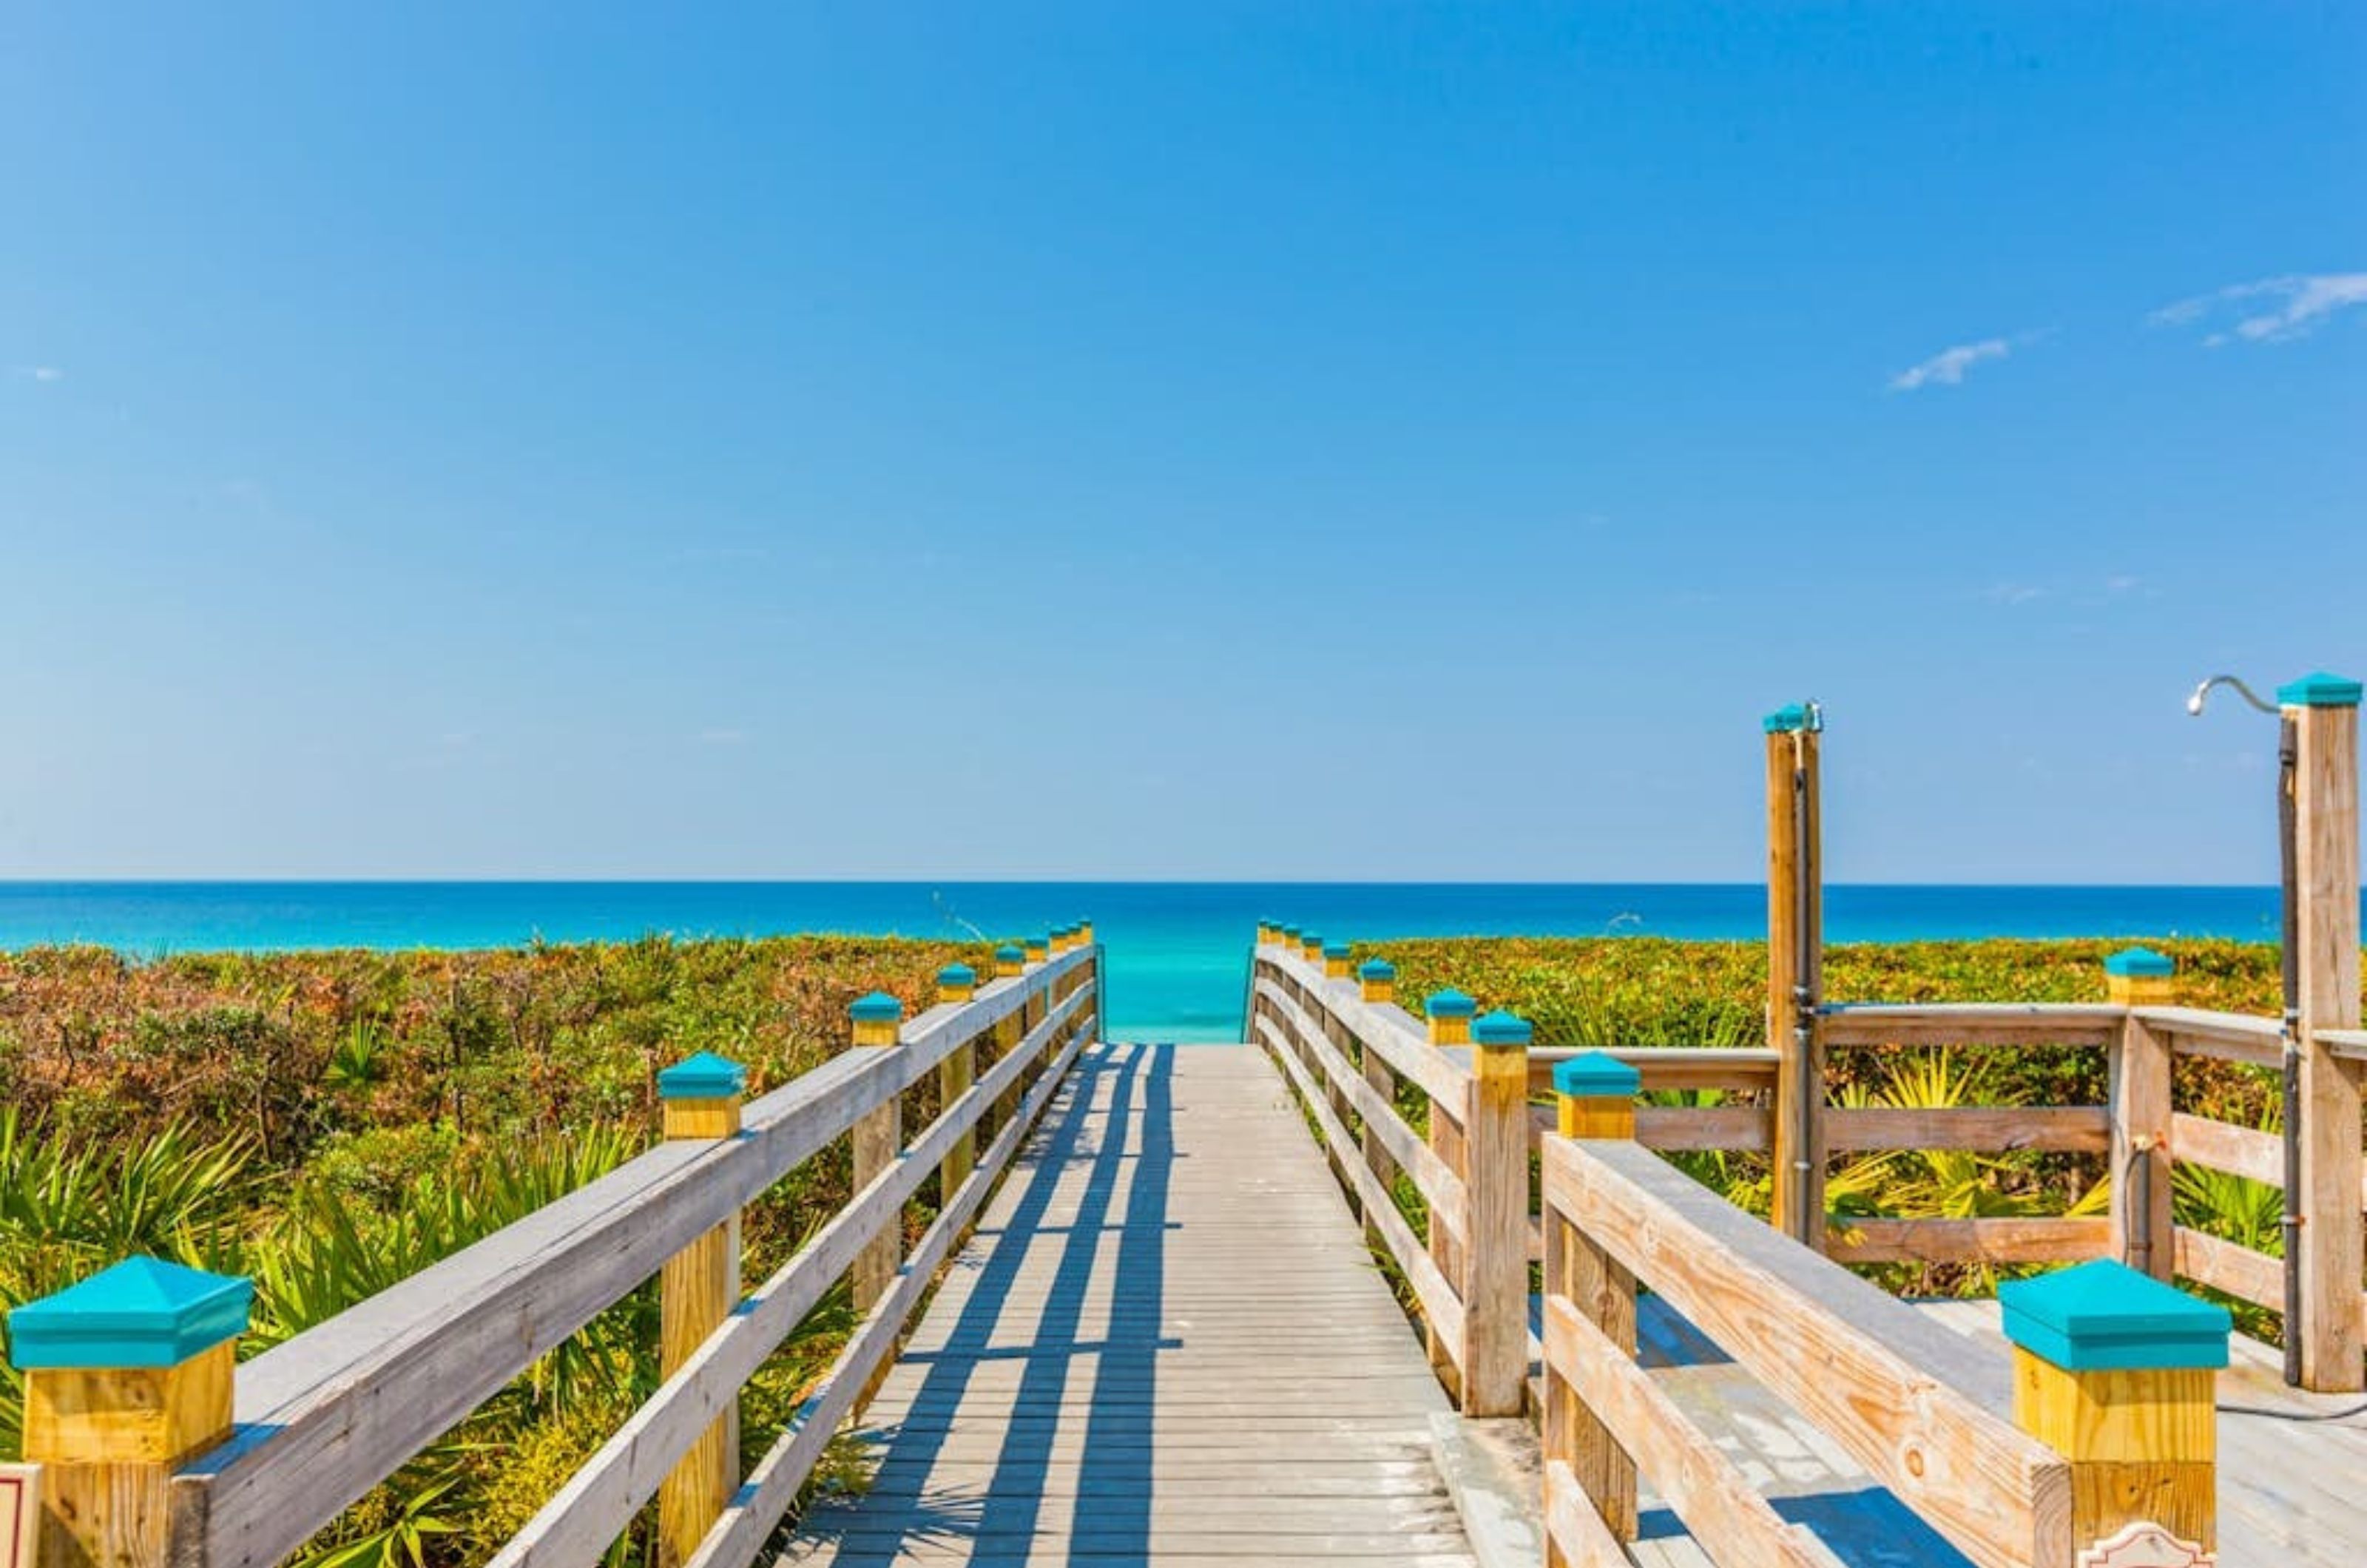
[[[1463,1414],[1529,1407],[1529,1023],[1472,1021],[1472,1104],[1463,1123],[1472,1234],[1463,1255]]]

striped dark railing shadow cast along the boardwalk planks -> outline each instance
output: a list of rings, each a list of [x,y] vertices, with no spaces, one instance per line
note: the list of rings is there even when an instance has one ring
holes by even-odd
[[[909,1547],[928,1542],[1025,1551],[1046,1525],[1065,1525],[1079,1547],[1089,1544],[1096,1563],[1122,1568],[1150,1561],[1157,1357],[1179,1343],[1160,1334],[1167,1232],[1174,1229],[1167,1217],[1176,1161],[1174,1052],[1174,1045],[1117,1045],[1098,1061],[1079,1061],[1072,1085],[1046,1118],[1051,1132],[1013,1177],[1023,1182],[1018,1203],[999,1227],[980,1227],[980,1236],[1001,1234],[1011,1244],[987,1253],[944,1345],[902,1357],[925,1367],[918,1393],[899,1421],[869,1433],[878,1457],[873,1487],[911,1487],[911,1499],[890,1516],[895,1528],[883,1528],[888,1521],[873,1511],[852,1509],[814,1509],[807,1518],[817,1540],[836,1542],[833,1563],[885,1568]],[[1131,1182],[1120,1196],[1129,1163]],[[1063,1182],[1075,1187],[1079,1165],[1086,1175],[1075,1194],[1075,1220],[1049,1225],[1065,1196]],[[1041,1312],[1032,1324],[1006,1322],[1030,1255],[1041,1253],[1023,1241],[1063,1232]],[[1112,1241],[1108,1329],[1089,1338],[1091,1284]],[[999,1326],[1027,1326],[1025,1345],[997,1348]],[[1020,1362],[1023,1371],[992,1478],[961,1506],[930,1502],[923,1483],[954,1435],[973,1374],[994,1362]],[[1065,1499],[1051,1485],[1053,1450],[1079,1369],[1089,1369],[1091,1395],[1084,1450],[1075,1461],[1075,1499]],[[1089,1521],[1044,1518],[1046,1502],[1082,1509],[1084,1499],[1091,1499]]]

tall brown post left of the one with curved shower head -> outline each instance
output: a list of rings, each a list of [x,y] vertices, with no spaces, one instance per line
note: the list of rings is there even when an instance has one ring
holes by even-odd
[[[1775,1229],[1825,1251],[1825,886],[1815,703],[1768,713],[1768,1047],[1775,1066]]]

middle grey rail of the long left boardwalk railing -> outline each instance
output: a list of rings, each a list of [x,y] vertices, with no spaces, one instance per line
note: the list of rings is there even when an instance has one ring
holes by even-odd
[[[731,1409],[741,1386],[755,1376],[788,1334],[805,1322],[821,1293],[854,1265],[857,1253],[911,1201],[944,1153],[1034,1061],[1046,1042],[1091,997],[1079,990],[1060,1002],[1023,1042],[997,1061],[978,1085],[944,1106],[937,1120],[909,1144],[871,1184],[798,1248],[739,1312],[665,1379],[627,1416],[556,1495],[492,1556],[492,1568],[561,1568],[596,1563],[632,1516],[658,1492],[665,1473],[689,1452],[715,1416]],[[902,1251],[902,1241],[897,1244]],[[897,1317],[902,1324],[902,1317]]]

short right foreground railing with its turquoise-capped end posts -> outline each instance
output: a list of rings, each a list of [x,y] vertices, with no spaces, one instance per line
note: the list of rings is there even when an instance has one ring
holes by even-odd
[[[1614,1071],[1572,1063],[1565,1087]],[[2090,1262],[2007,1286],[1998,1357],[1626,1142],[1617,1108],[1576,1101],[1588,1137],[1543,1144],[1550,1563],[1624,1563],[1638,1476],[1714,1563],[1830,1563],[1638,1367],[1638,1286],[1984,1568],[2216,1544],[2223,1310]]]

